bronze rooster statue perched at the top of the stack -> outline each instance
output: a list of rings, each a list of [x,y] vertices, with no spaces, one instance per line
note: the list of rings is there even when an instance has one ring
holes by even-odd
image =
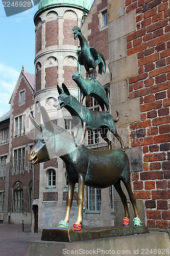
[[[83,36],[79,27],[72,28],[75,40],[77,37],[80,40],[81,52],[79,53],[78,60],[81,66],[84,65],[87,77],[89,76],[89,69],[92,68],[92,78],[95,76],[95,68],[99,66],[99,74],[106,73],[106,61],[102,53],[98,52],[95,48],[90,47],[86,38]]]

